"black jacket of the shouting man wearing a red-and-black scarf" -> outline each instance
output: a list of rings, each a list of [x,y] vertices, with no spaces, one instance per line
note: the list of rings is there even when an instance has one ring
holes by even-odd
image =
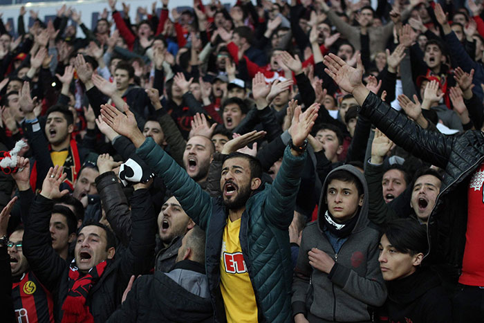
[[[156,225],[153,214],[147,210],[149,194],[147,190],[137,190],[133,194],[131,216],[133,228],[127,250],[113,261],[102,273],[87,297],[87,304],[94,322],[106,322],[109,315],[121,303],[122,293],[127,287],[131,275],[147,273],[152,264],[155,248]],[[24,255],[30,268],[39,281],[55,295],[55,320],[62,320],[62,304],[68,293],[69,266],[64,259],[53,250],[48,231],[50,212],[53,201],[44,196],[37,196],[32,204],[30,213],[36,221],[30,221],[25,226]]]

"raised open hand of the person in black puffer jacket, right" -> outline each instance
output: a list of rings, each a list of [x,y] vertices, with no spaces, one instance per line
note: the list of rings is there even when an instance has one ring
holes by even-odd
[[[343,59],[335,54],[324,56],[324,64],[328,67],[324,71],[338,84],[338,86],[348,93],[353,93],[357,86],[362,85],[363,63],[359,55],[356,68],[349,66]]]

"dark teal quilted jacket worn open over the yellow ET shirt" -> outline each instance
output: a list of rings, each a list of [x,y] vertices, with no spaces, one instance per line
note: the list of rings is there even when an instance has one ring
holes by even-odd
[[[221,197],[210,198],[184,169],[147,138],[136,153],[162,177],[183,210],[207,234],[205,268],[214,316],[225,322],[220,290],[220,252],[227,210]],[[299,177],[306,153],[295,157],[286,148],[272,185],[253,194],[245,204],[239,238],[257,301],[259,322],[291,322],[292,267],[288,227],[292,221]],[[243,306],[241,304],[241,306]]]

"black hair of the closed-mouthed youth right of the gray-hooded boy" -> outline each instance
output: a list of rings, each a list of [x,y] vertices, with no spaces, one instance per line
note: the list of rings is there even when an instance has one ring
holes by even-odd
[[[426,226],[416,219],[391,221],[384,226],[383,233],[387,235],[391,246],[402,253],[413,256],[422,252],[425,255],[429,250]]]

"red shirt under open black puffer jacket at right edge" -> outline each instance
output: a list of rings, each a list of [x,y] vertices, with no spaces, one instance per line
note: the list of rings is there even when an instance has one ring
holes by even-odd
[[[459,283],[484,286],[484,163],[476,169],[467,188],[467,230]]]

